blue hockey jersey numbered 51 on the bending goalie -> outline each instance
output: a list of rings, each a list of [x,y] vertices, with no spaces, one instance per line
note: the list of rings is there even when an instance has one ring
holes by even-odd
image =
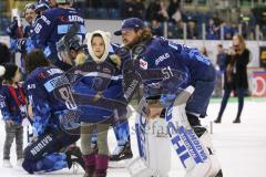
[[[160,50],[158,50],[160,49]],[[186,45],[177,44],[162,37],[153,38],[145,44],[145,49],[135,61],[140,73],[147,70],[156,70],[166,79],[162,80],[145,80],[144,84],[150,85],[160,92],[175,92],[178,87],[195,85],[197,81],[215,81],[215,69],[209,59],[203,55],[197,49],[192,49]],[[172,77],[180,73],[181,77]],[[175,80],[170,81],[168,80]],[[151,91],[151,90],[150,90]]]

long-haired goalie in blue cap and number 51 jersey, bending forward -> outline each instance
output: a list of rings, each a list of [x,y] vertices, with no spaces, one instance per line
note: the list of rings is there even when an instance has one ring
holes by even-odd
[[[211,160],[211,167],[204,169],[201,168],[201,164],[196,164],[195,168],[185,168],[187,173],[186,176],[222,177],[222,169],[212,147],[211,137],[206,128],[203,127],[200,122],[200,117],[203,118],[206,116],[206,110],[216,79],[215,69],[209,59],[202,55],[196,49],[171,42],[162,37],[152,37],[143,21],[137,18],[124,20],[121,29],[114,32],[114,34],[122,35],[124,45],[131,50],[137,45],[142,46],[141,50],[139,48],[137,55],[135,55],[132,50],[133,56],[135,58],[134,66],[137,72],[142,72],[142,74],[140,74],[141,76],[152,70],[156,70],[164,75],[164,80],[168,81],[163,82],[162,79],[154,80],[153,75],[151,75],[150,81],[147,81],[149,76],[145,77],[145,81],[143,82],[145,87],[150,84],[149,86],[154,85],[153,88],[161,90],[162,94],[157,98],[158,104],[156,105],[161,105],[162,108],[167,108],[174,103],[178,95],[180,90],[177,88],[180,86],[184,88],[188,85],[193,85],[195,87],[195,92],[185,107],[186,116],[192,128],[200,138],[201,144],[207,149],[207,159]],[[175,71],[186,75],[186,81],[184,81],[182,85],[175,83],[175,79],[180,79],[178,75],[175,74]],[[155,115],[152,111],[152,107],[150,107],[150,115]],[[151,145],[151,147],[153,146],[156,145]],[[184,159],[181,158],[182,163],[184,163],[183,160]],[[198,175],[197,171],[202,175]],[[195,173],[197,175],[195,175]],[[194,176],[192,174],[194,174]]]

